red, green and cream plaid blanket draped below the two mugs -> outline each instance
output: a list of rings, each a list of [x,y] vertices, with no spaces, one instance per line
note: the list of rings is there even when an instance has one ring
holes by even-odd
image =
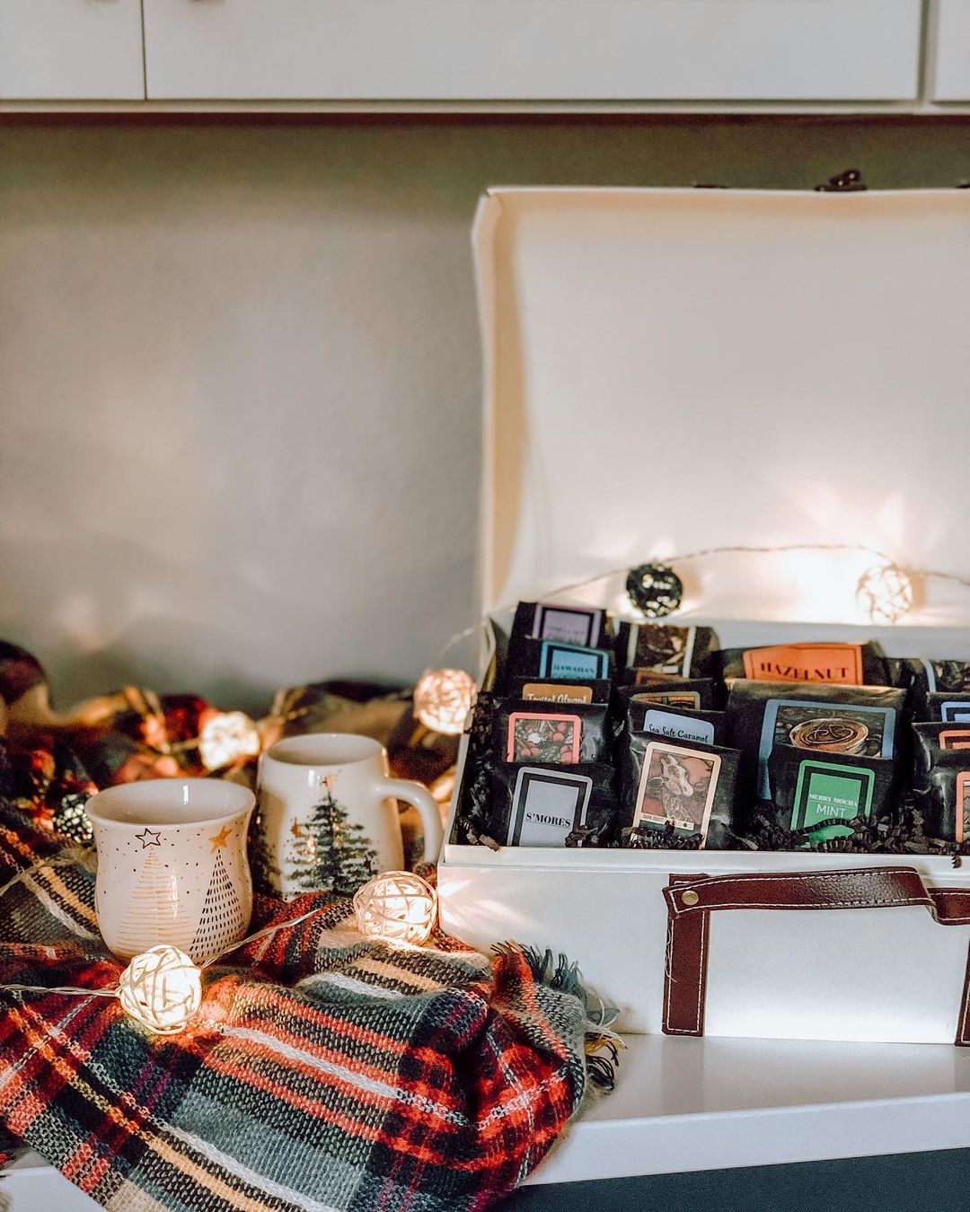
[[[2,892],[0,982],[110,988],[92,852],[0,806],[0,884],[45,857]],[[314,902],[210,968],[177,1036],[114,999],[0,990],[0,1121],[124,1212],[453,1212],[508,1193],[610,1079],[575,970],[365,942],[325,893],[259,899],[253,930]]]

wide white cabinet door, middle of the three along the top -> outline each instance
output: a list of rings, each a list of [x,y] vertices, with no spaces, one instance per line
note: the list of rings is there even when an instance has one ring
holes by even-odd
[[[144,0],[159,99],[917,96],[919,0]]]

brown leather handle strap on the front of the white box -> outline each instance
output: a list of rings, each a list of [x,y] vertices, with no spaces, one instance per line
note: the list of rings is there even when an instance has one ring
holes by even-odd
[[[941,926],[970,925],[970,888],[930,888],[912,867],[845,871],[672,875],[667,901],[663,1030],[703,1035],[709,915],[715,909],[889,909],[924,905]],[[970,951],[957,1025],[970,1046]]]

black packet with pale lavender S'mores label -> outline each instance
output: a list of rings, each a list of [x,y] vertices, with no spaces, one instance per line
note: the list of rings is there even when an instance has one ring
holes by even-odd
[[[496,762],[491,836],[502,846],[601,845],[616,823],[612,766]]]

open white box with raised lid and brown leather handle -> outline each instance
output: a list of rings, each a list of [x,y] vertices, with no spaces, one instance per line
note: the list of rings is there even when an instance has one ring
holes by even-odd
[[[711,547],[966,571],[969,193],[495,190],[474,248],[500,629],[519,599]],[[873,562],[689,561],[672,621],[970,658],[951,583],[861,625]],[[970,865],[946,858],[492,852],[450,825],[439,888],[445,928],[564,951],[628,1031],[970,1042]]]

